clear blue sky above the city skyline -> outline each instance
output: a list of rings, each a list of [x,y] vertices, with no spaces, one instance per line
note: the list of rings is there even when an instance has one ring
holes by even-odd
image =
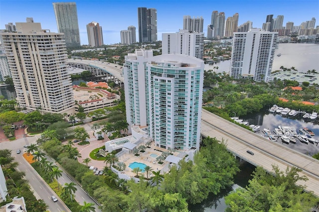
[[[25,22],[33,17],[42,29],[58,32],[53,2],[76,2],[81,44],[88,44],[86,24],[95,21],[102,26],[104,44],[121,42],[121,30],[136,27],[138,41],[138,7],[156,8],[158,15],[158,40],[161,34],[177,32],[183,27],[183,16],[202,16],[204,33],[214,10],[225,12],[225,17],[239,14],[238,26],[252,21],[254,28],[262,28],[266,16],[284,15],[283,26],[288,21],[294,25],[316,18],[319,25],[319,0],[0,0],[0,29],[11,22]]]

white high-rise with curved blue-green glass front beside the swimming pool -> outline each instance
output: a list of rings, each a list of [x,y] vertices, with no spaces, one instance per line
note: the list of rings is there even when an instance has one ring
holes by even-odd
[[[199,148],[204,61],[136,50],[124,65],[127,121],[165,149]]]

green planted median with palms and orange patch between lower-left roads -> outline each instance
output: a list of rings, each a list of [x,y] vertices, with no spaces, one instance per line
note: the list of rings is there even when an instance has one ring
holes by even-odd
[[[55,177],[54,168],[56,167],[52,163],[42,159],[42,161],[37,161],[34,159],[31,153],[23,153],[25,160],[31,164],[35,171],[41,176],[41,178],[47,183],[47,185],[55,192],[56,195],[63,201],[63,203],[72,211],[80,212],[81,206],[76,202],[71,200],[71,196],[63,191],[63,187]],[[45,161],[45,162],[44,162]],[[74,200],[74,198],[72,198]]]

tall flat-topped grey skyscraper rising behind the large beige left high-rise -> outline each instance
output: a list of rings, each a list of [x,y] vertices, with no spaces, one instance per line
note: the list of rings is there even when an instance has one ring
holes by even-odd
[[[59,33],[64,33],[67,47],[80,46],[78,14],[75,2],[53,3]]]

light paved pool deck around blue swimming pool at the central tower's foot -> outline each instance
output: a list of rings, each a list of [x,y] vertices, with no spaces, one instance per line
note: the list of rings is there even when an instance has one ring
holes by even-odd
[[[130,163],[133,163],[133,162],[144,163],[147,166],[152,167],[153,171],[159,171],[162,168],[164,168],[168,164],[168,162],[163,161],[163,164],[159,164],[156,161],[156,158],[150,156],[151,154],[157,154],[158,156],[161,155],[160,151],[156,151],[154,149],[158,149],[158,150],[163,151],[163,152],[167,151],[166,149],[163,149],[163,148],[160,148],[160,147],[156,147],[155,146],[155,142],[152,142],[151,148],[146,148],[145,152],[139,152],[140,156],[138,156],[138,157],[135,156],[133,153],[127,153],[127,154],[122,155],[119,158],[119,161],[124,162],[125,165],[126,165],[126,169],[124,171],[122,171],[122,173],[126,174],[126,175],[128,175],[130,177],[135,176],[135,173],[129,167]],[[172,152],[172,153],[173,153],[174,156],[179,154],[179,152],[177,152],[177,151]],[[145,173],[143,173],[143,174],[146,177],[146,174]],[[161,172],[161,174],[163,174],[163,173]],[[141,176],[141,173],[139,175]],[[151,175],[151,177],[152,177],[152,175]]]

